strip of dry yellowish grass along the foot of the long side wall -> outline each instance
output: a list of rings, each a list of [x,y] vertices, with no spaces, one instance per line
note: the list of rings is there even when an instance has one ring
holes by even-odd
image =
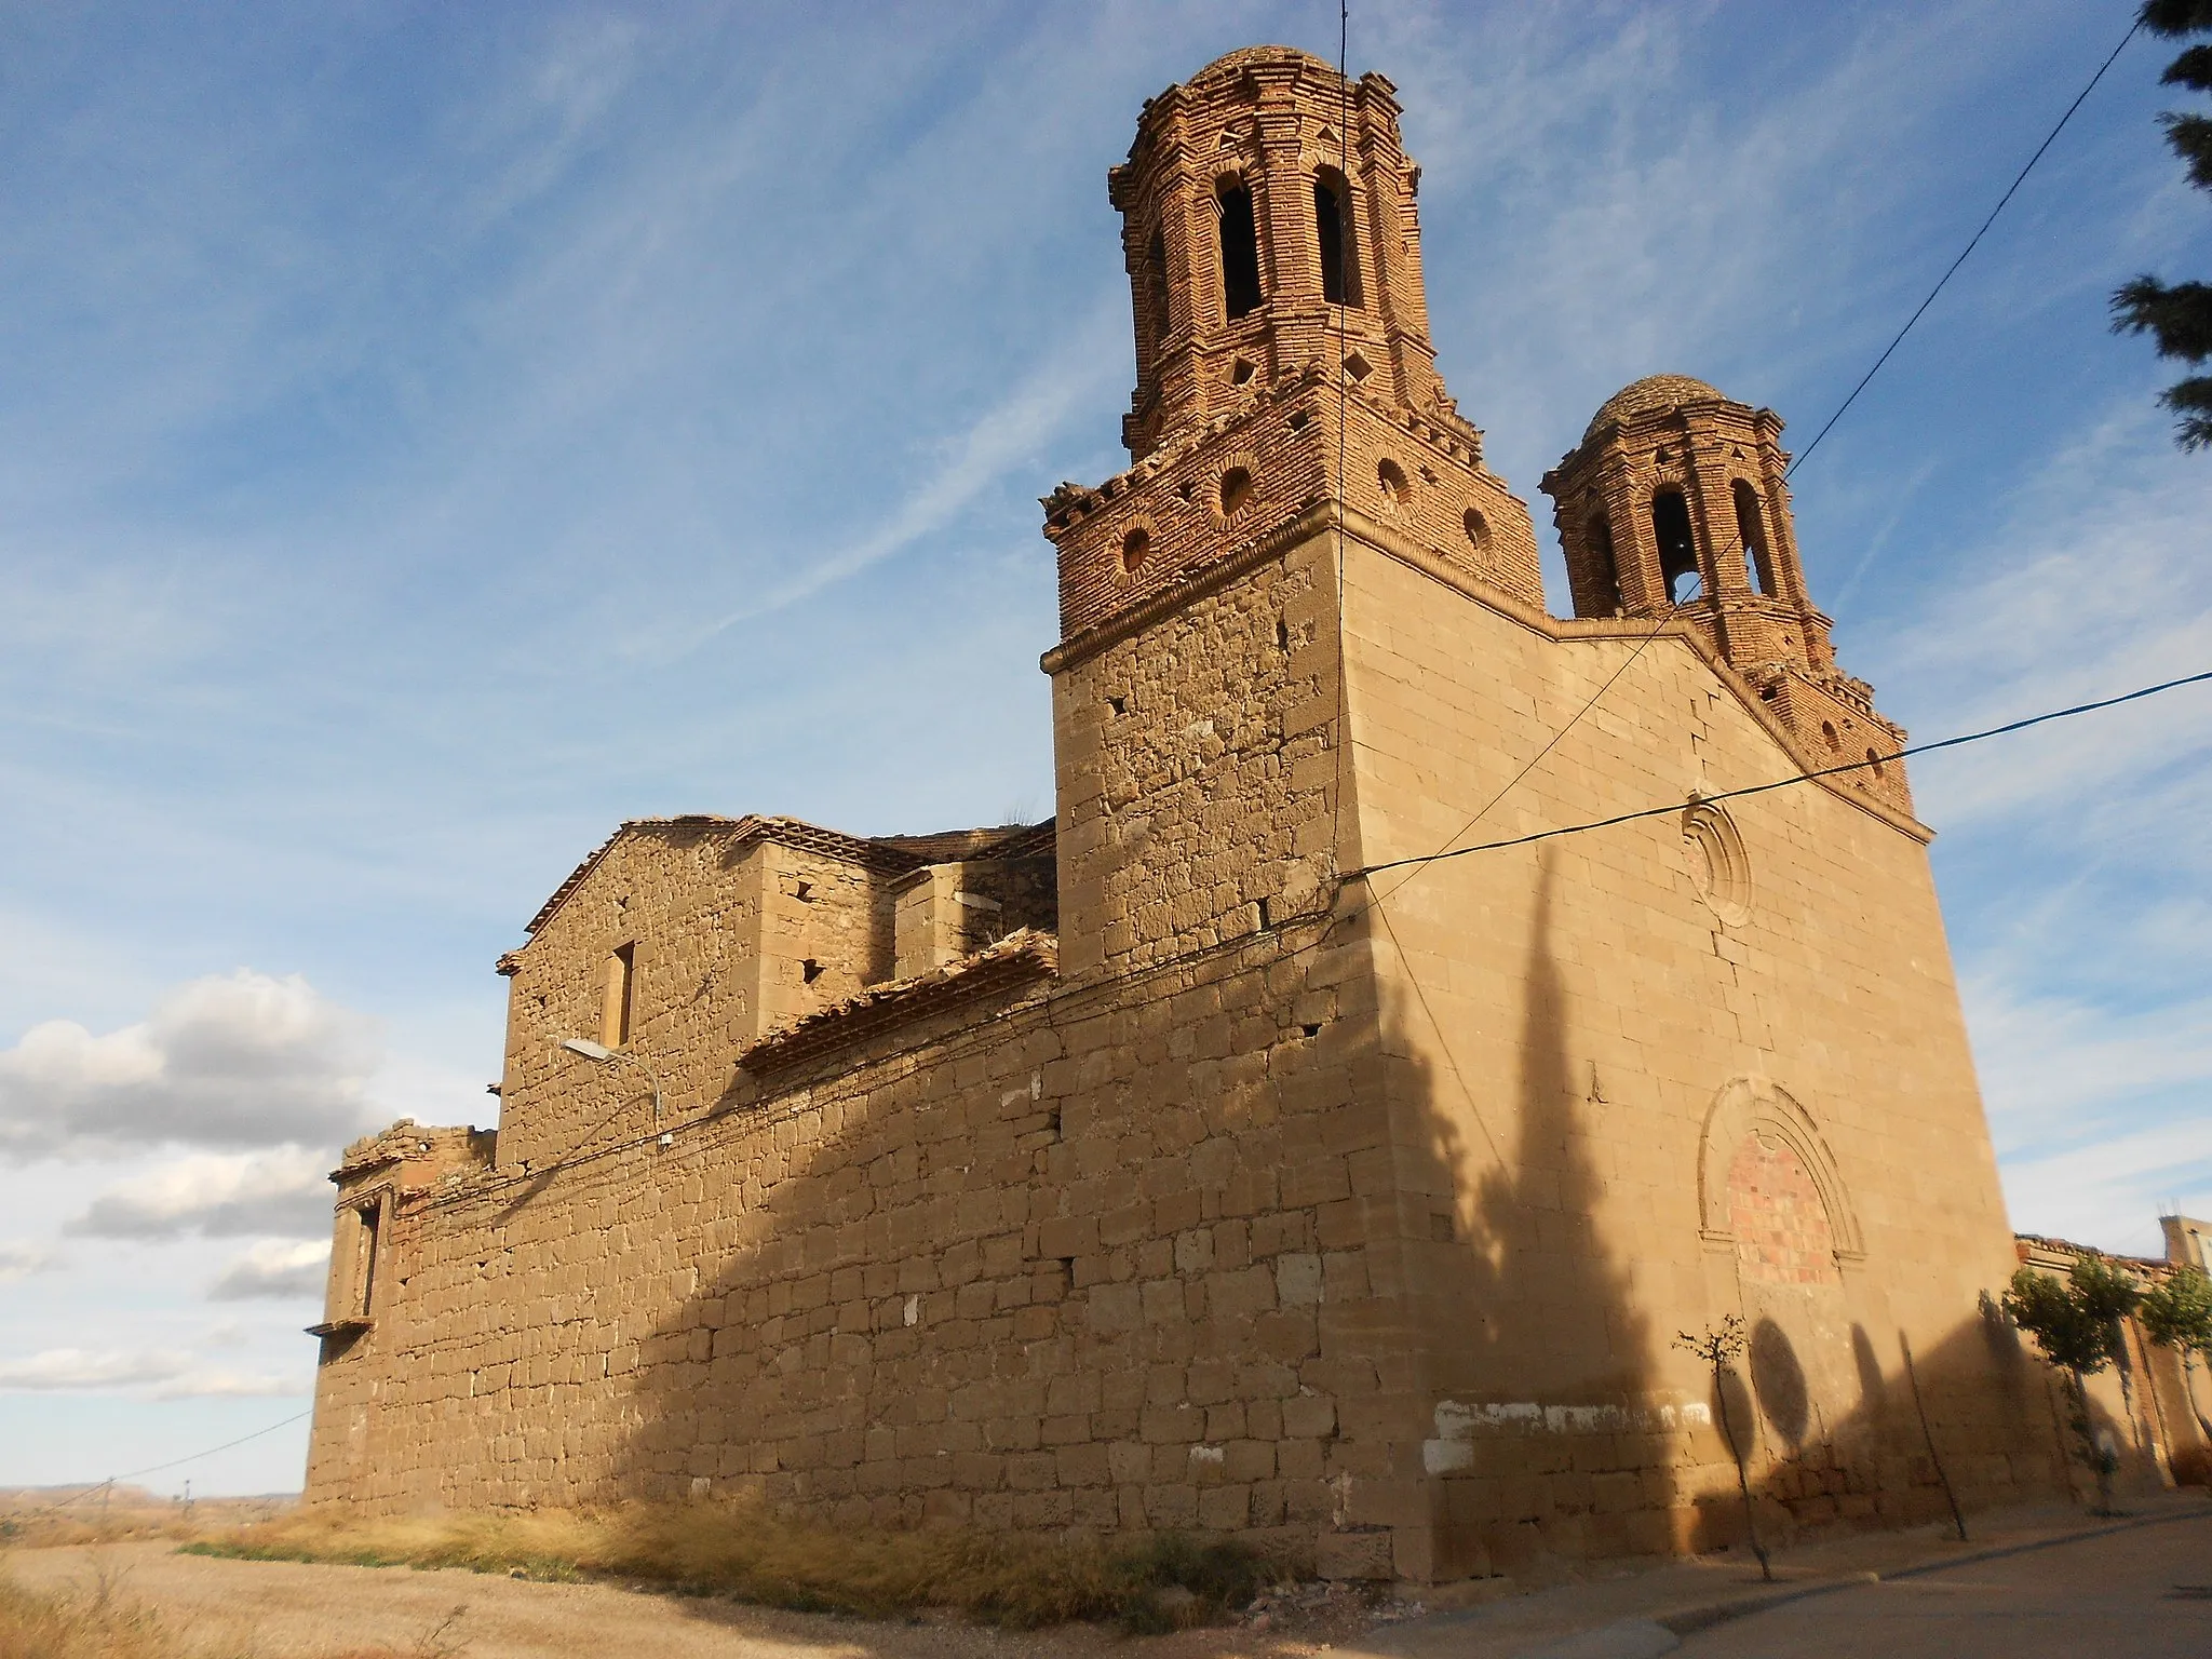
[[[838,1528],[748,1502],[356,1520],[301,1511],[186,1544],[195,1555],[648,1582],[774,1608],[883,1619],[958,1613],[1035,1628],[1168,1630],[1241,1608],[1267,1566],[1232,1542],[1157,1533],[1099,1546],[967,1528]]]

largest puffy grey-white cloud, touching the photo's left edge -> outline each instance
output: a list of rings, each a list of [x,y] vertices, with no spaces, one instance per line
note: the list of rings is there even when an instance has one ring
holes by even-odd
[[[0,1152],[341,1141],[374,1115],[374,1068],[369,1020],[299,975],[239,969],[106,1035],[31,1026],[0,1053]]]

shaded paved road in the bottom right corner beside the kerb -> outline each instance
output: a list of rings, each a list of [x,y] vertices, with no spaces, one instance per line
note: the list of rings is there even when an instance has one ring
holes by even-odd
[[[2212,1513],[1714,1626],[1683,1659],[2212,1659]]]

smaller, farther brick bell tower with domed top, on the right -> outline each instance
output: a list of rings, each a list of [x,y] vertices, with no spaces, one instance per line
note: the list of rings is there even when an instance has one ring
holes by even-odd
[[[1692,624],[1809,750],[1867,761],[1854,785],[1911,812],[1905,730],[1874,688],[1836,666],[1790,520],[1790,451],[1772,409],[1688,374],[1652,374],[1599,405],[1542,491],[1566,553],[1577,617]]]

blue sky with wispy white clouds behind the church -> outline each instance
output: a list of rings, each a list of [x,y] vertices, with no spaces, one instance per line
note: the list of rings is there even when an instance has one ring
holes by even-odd
[[[2130,11],[1360,0],[1491,462],[1544,522],[1661,369],[1803,447]],[[319,1172],[487,1119],[491,962],[619,818],[1051,810],[1104,175],[1263,40],[1334,4],[0,7],[0,1484],[305,1407]],[[2212,458],[2104,310],[2212,272],[2166,55],[1792,480],[1922,739],[2212,668]],[[1916,768],[2024,1230],[2212,1210],[2208,750],[2194,690]]]

